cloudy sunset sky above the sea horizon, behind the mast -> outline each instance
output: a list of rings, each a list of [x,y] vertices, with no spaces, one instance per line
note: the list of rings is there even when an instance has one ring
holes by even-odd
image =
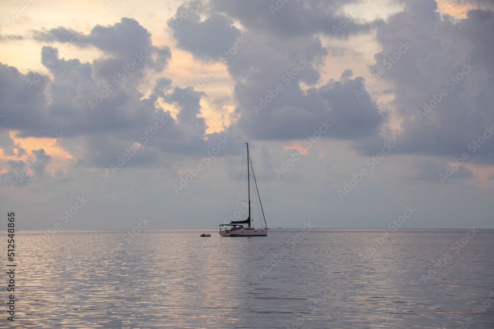
[[[22,230],[494,228],[491,0],[2,0]]]

